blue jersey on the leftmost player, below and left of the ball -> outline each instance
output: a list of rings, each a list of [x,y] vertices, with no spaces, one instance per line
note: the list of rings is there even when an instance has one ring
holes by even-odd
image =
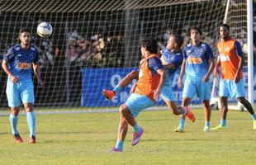
[[[19,82],[31,82],[32,63],[39,59],[38,51],[35,46],[30,46],[28,50],[21,48],[21,45],[15,45],[4,55],[4,60],[14,76]]]

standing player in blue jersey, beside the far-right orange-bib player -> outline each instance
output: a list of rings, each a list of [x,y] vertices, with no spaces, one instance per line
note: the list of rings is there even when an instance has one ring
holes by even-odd
[[[184,51],[184,59],[178,87],[182,88],[183,76],[186,73],[186,80],[183,88],[183,106],[188,106],[193,97],[197,95],[204,107],[205,127],[204,131],[210,131],[211,117],[211,82],[210,75],[215,67],[214,55],[209,45],[201,41],[201,30],[193,26],[190,29],[191,44],[188,44]],[[175,132],[183,132],[186,116],[183,115]]]

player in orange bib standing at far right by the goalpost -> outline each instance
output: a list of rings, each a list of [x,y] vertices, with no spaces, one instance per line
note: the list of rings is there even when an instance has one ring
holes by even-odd
[[[241,46],[237,40],[230,37],[230,26],[222,24],[220,26],[220,41],[217,44],[220,58],[217,61],[214,75],[216,77],[221,68],[220,78],[220,125],[211,130],[218,130],[225,128],[226,115],[228,112],[228,97],[237,98],[245,108],[252,115],[254,120],[254,130],[256,130],[256,115],[253,106],[246,100],[244,79],[243,79],[243,65],[244,54]]]

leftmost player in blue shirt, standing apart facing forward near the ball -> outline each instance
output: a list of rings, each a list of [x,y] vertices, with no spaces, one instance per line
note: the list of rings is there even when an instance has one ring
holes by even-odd
[[[34,85],[31,78],[32,68],[36,78],[43,86],[44,82],[40,78],[40,68],[37,63],[39,59],[36,47],[30,45],[31,32],[22,27],[19,33],[20,45],[15,45],[7,51],[2,60],[2,68],[7,73],[7,101],[11,107],[10,123],[12,134],[17,143],[22,143],[23,139],[17,130],[18,115],[23,103],[26,111],[26,120],[30,130],[31,144],[36,143],[36,116],[33,111]]]

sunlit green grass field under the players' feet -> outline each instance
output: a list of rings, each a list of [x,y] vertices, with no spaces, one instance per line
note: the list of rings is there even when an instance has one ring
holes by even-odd
[[[25,143],[12,138],[7,116],[0,116],[0,164],[255,164],[256,130],[248,112],[230,111],[228,128],[202,132],[202,111],[186,122],[185,133],[174,133],[179,117],[169,111],[143,111],[138,117],[145,129],[132,147],[132,129],[123,153],[107,153],[116,144],[118,113],[37,115],[37,144],[28,144],[26,116],[18,128]],[[212,111],[211,126],[219,124]]]

